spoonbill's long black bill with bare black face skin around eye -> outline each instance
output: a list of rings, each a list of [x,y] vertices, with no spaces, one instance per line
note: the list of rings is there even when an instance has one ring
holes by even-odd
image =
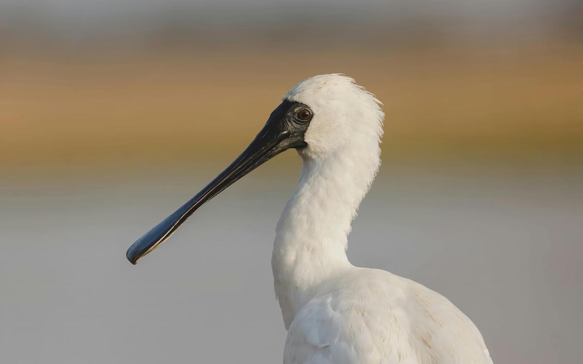
[[[306,112],[309,111],[309,112]],[[306,120],[307,115],[309,118]],[[227,169],[212,182],[192,197],[182,207],[168,216],[160,224],[146,232],[132,246],[126,256],[130,263],[136,264],[138,259],[156,249],[170,237],[182,222],[198,210],[207,201],[218,195],[238,179],[290,148],[303,148],[305,130],[308,129],[314,113],[304,104],[283,101],[269,116],[261,132],[249,144],[247,149]]]

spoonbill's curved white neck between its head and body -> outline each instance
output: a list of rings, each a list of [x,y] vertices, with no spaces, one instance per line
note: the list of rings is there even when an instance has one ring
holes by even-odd
[[[308,158],[300,151],[300,182],[278,222],[272,256],[286,328],[322,282],[352,267],[347,238],[380,164],[378,150],[373,151],[375,158],[357,152]]]

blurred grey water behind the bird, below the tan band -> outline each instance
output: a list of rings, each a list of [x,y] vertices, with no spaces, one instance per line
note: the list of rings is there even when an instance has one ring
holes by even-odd
[[[3,182],[0,361],[281,362],[270,259],[296,167],[260,168],[137,266],[125,260],[219,169]],[[385,164],[349,257],[447,296],[497,364],[580,362],[582,182],[567,167]]]

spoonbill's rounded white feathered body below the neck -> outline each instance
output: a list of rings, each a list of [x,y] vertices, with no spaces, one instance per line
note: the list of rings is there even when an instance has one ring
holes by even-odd
[[[284,364],[491,364],[482,335],[446,298],[387,271],[348,267],[291,321]]]

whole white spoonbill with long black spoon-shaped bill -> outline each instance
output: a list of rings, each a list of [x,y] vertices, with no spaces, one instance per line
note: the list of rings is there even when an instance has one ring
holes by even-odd
[[[129,248],[132,263],[220,191],[283,150],[303,166],[276,228],[272,268],[288,330],[285,364],[491,364],[476,326],[446,298],[346,256],[380,166],[380,101],[350,77],[306,79],[222,174]]]

